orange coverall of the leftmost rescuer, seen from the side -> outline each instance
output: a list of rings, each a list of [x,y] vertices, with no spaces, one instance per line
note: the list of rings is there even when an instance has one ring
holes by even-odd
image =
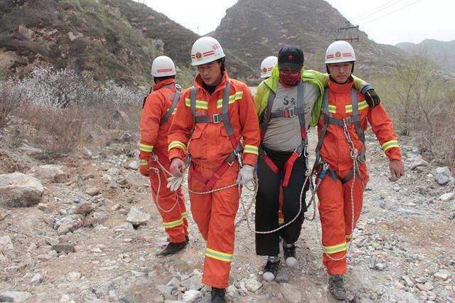
[[[181,188],[178,191],[170,191],[167,187],[166,175],[161,171],[159,164],[152,159],[152,153],[158,156],[159,161],[169,171],[167,151],[168,129],[171,126],[174,115],[160,126],[161,117],[171,107],[173,96],[176,93],[174,79],[162,80],[156,83],[147,98],[141,115],[141,142],[139,144],[139,169],[141,174],[149,176],[152,198],[156,203],[163,226],[169,235],[171,243],[182,243],[188,235],[188,220],[186,219],[185,198]],[[165,87],[166,86],[166,87]],[[149,168],[160,169],[159,176]],[[160,180],[159,180],[160,179]],[[158,187],[161,181],[161,187]],[[158,194],[158,196],[156,196]],[[176,205],[177,203],[177,205]]]

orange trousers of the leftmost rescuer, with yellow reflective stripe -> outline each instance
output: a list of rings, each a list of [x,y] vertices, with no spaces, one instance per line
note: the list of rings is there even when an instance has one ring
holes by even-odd
[[[166,169],[168,164],[164,165]],[[185,241],[186,226],[183,223],[182,213],[186,211],[183,194],[181,189],[177,192],[170,191],[166,187],[166,176],[160,171],[159,177],[161,179],[161,187],[159,188],[158,203],[165,211],[172,209],[170,212],[162,211],[157,207],[161,218],[163,219],[163,227],[169,236],[171,243],[182,243]],[[159,180],[158,176],[153,172],[150,174],[150,185],[152,198],[156,199],[156,192],[158,191]],[[177,194],[176,194],[177,193]],[[182,203],[183,201],[183,203]],[[177,203],[176,206],[174,206]]]

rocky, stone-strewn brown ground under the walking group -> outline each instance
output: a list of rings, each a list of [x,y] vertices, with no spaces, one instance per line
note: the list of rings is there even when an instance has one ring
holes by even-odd
[[[200,282],[205,243],[191,213],[186,250],[156,257],[166,234],[130,152],[134,136],[58,159],[26,142],[11,147],[14,126],[0,137],[1,302],[210,302]],[[407,172],[393,182],[368,137],[370,182],[348,253],[350,301],[454,302],[455,180],[422,160],[414,140],[401,143]],[[251,199],[245,191],[245,206]],[[277,282],[262,280],[253,219],[254,208],[237,227],[229,302],[334,302],[319,218],[304,223],[298,265],[283,265]]]

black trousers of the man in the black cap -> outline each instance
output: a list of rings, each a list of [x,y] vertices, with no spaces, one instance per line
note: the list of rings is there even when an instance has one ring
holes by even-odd
[[[264,151],[280,171],[283,170],[284,164],[286,164],[287,159],[292,154],[291,151],[272,151],[270,149],[264,149]],[[279,187],[282,184],[284,174],[275,174],[261,157],[259,157],[257,165],[259,189],[256,196],[256,230],[274,230],[279,227]],[[283,238],[284,243],[288,244],[294,243],[299,239],[301,225],[304,223],[304,213],[306,212],[305,193],[309,189],[309,181],[307,181],[301,201],[299,201],[301,188],[304,186],[306,179],[305,172],[305,155],[302,154],[299,159],[296,159],[292,167],[288,186],[283,188],[282,213],[284,215],[284,224],[294,219],[297,213],[299,213],[300,203],[301,213],[293,223],[277,232],[256,233],[257,255],[278,255],[279,236]]]

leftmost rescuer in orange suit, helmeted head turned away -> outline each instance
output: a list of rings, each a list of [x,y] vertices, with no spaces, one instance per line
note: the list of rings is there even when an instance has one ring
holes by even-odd
[[[174,79],[176,68],[173,61],[164,55],[157,57],[152,63],[151,75],[155,85],[144,100],[141,115],[139,170],[144,176],[149,176],[152,198],[163,218],[163,226],[169,238],[168,245],[159,255],[172,255],[185,248],[188,242],[185,198],[180,188],[174,192],[166,187],[166,175],[161,171],[155,157],[169,169],[167,134],[181,87]]]

